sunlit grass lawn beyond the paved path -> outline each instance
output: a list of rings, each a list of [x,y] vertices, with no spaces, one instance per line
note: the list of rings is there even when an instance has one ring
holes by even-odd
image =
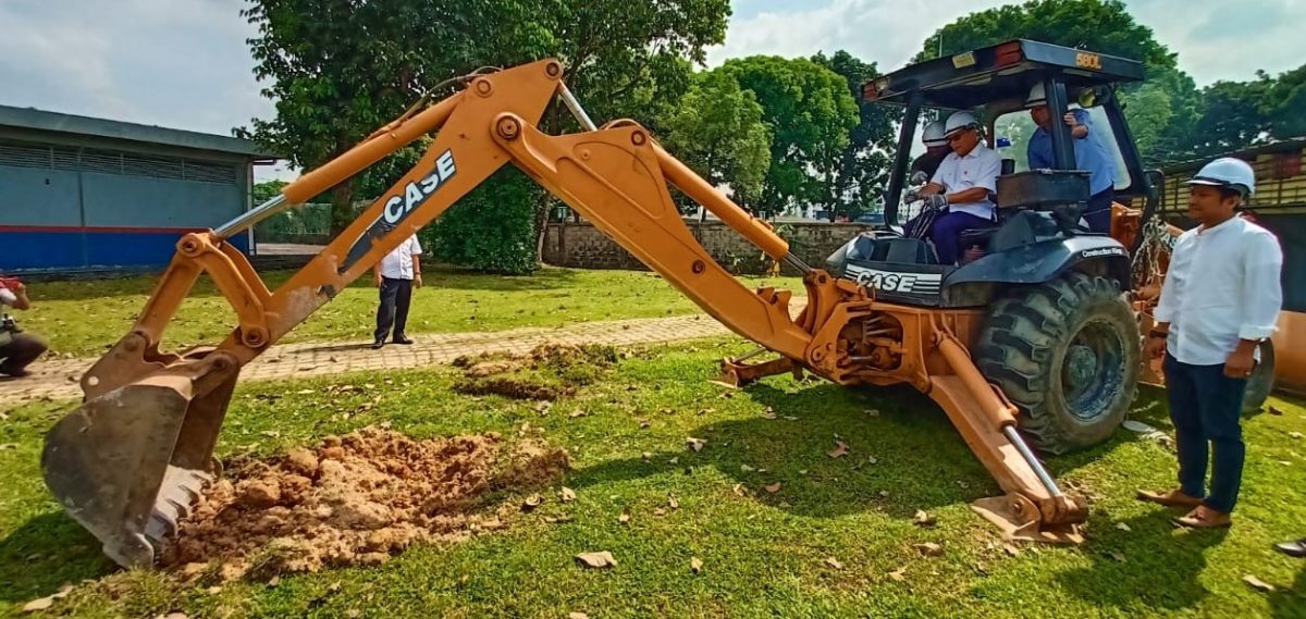
[[[264,274],[269,289],[291,272]],[[55,354],[95,355],[127,333],[154,290],[157,277],[34,282],[33,310],[21,324],[50,338]],[[743,277],[750,289],[780,286],[802,293],[799,278]],[[500,330],[559,326],[699,312],[699,307],[654,273],[543,268],[533,276],[486,276],[427,269],[426,287],[414,293],[409,333]],[[367,340],[376,326],[371,276],[290,332],[282,342]],[[94,316],[94,320],[89,320]],[[235,326],[235,313],[208,279],[201,281],[168,325],[176,347],[217,343]]]

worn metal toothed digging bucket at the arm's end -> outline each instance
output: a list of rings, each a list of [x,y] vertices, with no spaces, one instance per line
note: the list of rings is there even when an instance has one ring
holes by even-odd
[[[90,397],[46,435],[46,486],[123,567],[153,565],[219,473],[213,447],[238,372],[199,363],[209,367],[165,370]]]

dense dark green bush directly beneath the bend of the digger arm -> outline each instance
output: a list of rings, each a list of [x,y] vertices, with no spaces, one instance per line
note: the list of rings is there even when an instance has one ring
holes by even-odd
[[[488,273],[535,270],[534,212],[543,189],[507,167],[458,200],[423,232],[436,259]]]

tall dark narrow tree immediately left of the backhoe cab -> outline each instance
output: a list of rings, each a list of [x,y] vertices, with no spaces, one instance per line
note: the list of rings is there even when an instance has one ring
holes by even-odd
[[[844,77],[854,102],[862,97],[862,85],[879,74],[875,63],[863,63],[844,50],[829,57],[816,54],[812,61]],[[888,106],[859,106],[859,121],[849,132],[848,146],[829,162],[827,174],[835,180],[827,185],[829,193],[824,196],[821,205],[831,219],[838,215],[855,218],[875,210],[892,166],[888,153],[895,146],[893,120]]]

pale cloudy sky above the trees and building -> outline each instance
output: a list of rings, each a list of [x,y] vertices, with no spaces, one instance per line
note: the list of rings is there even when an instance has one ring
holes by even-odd
[[[708,64],[848,50],[897,68],[943,25],[1000,0],[735,0]],[[1126,0],[1198,85],[1306,61],[1306,0]],[[0,0],[0,104],[230,135],[272,118],[244,0]],[[1182,17],[1182,18],[1181,18]],[[260,170],[260,178],[293,176]]]

